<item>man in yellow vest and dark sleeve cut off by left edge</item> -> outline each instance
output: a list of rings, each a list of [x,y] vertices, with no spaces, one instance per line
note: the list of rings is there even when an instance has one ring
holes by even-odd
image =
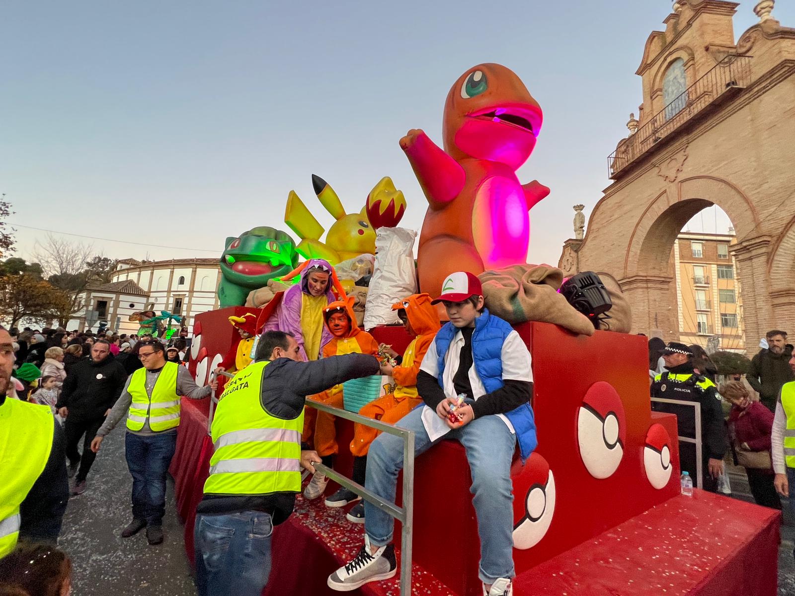
[[[0,557],[19,537],[55,543],[69,500],[64,432],[48,406],[6,397],[13,368],[0,327]]]

